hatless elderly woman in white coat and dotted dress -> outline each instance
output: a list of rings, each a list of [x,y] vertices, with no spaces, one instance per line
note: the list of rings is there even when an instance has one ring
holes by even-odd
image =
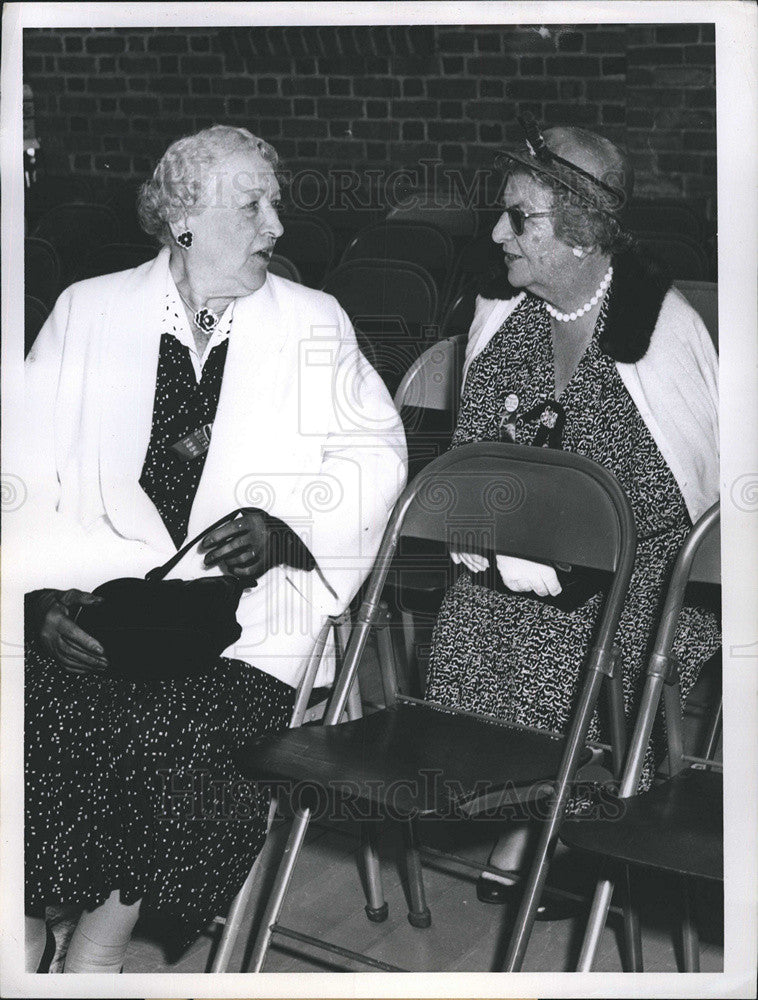
[[[267,272],[276,163],[244,129],[174,143],[140,196],[164,248],[65,291],[27,362],[19,516],[46,544],[25,580],[26,890],[58,925],[52,971],[118,972],[140,908],[188,940],[234,896],[266,809],[219,821],[233,751],[287,724],[404,485],[401,424],[347,316]],[[144,575],[240,506],[256,510],[173,573],[250,584],[239,642],[197,677],[112,674],[75,621],[92,589]]]

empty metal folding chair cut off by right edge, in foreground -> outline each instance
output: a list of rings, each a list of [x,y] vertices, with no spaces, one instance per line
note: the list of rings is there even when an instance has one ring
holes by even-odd
[[[693,527],[672,572],[661,624],[650,657],[629,754],[619,787],[619,817],[615,821],[568,820],[561,840],[577,850],[614,863],[618,875],[601,875],[592,902],[578,969],[588,972],[605,926],[618,877],[629,878],[628,866],[655,869],[678,876],[683,903],[683,958],[686,972],[699,971],[697,925],[692,914],[691,880],[723,880],[723,778],[713,761],[683,752],[682,711],[672,646],[688,581],[720,581],[719,505]],[[642,763],[663,697],[669,742],[671,777],[650,791],[637,794]],[[689,764],[689,766],[687,766]],[[627,900],[627,908],[631,907]],[[639,927],[633,909],[625,913],[633,940],[633,968],[642,971]]]

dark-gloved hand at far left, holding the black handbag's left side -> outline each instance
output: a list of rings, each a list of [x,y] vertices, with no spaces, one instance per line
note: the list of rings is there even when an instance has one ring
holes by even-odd
[[[39,591],[34,614],[37,635],[45,652],[72,674],[104,674],[108,671],[105,650],[73,615],[87,604],[101,604],[102,597],[84,590]]]

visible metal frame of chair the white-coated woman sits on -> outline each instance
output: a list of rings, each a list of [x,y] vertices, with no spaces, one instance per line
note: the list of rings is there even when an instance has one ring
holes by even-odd
[[[329,618],[326,622],[324,622],[318,639],[316,640],[316,645],[314,646],[306,665],[303,679],[298,685],[297,694],[295,696],[295,705],[292,709],[292,716],[289,723],[290,729],[296,729],[298,726],[302,726],[307,722],[314,722],[323,718],[324,712],[327,708],[327,702],[321,702],[316,705],[311,704],[311,695],[313,693],[313,684],[316,680],[316,674],[318,673],[318,668],[321,665],[321,658],[324,655],[330,631],[334,634],[335,653],[337,656],[337,663],[339,665],[342,662],[345,650],[347,649],[351,628],[352,624],[349,610],[345,611],[337,618]],[[345,717],[349,720],[360,719],[363,714],[361,695],[357,683],[350,689],[344,711]],[[271,830],[276,816],[276,809],[277,800],[274,797],[272,798],[271,805],[269,807],[269,831]],[[237,938],[239,937],[242,921],[245,918],[245,912],[247,911],[250,903],[250,896],[252,895],[253,889],[260,878],[261,873],[266,870],[267,865],[270,863],[271,852],[269,844],[270,841],[267,839],[260,854],[253,862],[241,889],[232,900],[227,915],[225,917],[216,917],[216,923],[222,924],[224,929],[221,933],[218,947],[216,948],[213,957],[211,972],[226,972],[229,967],[229,960],[232,956],[234,946],[237,943]]]

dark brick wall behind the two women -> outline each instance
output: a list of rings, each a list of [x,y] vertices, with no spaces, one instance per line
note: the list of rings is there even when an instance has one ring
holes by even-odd
[[[639,196],[715,218],[713,25],[27,29],[24,57],[51,174],[144,176],[221,121],[294,171],[470,178],[528,108],[625,145]]]

